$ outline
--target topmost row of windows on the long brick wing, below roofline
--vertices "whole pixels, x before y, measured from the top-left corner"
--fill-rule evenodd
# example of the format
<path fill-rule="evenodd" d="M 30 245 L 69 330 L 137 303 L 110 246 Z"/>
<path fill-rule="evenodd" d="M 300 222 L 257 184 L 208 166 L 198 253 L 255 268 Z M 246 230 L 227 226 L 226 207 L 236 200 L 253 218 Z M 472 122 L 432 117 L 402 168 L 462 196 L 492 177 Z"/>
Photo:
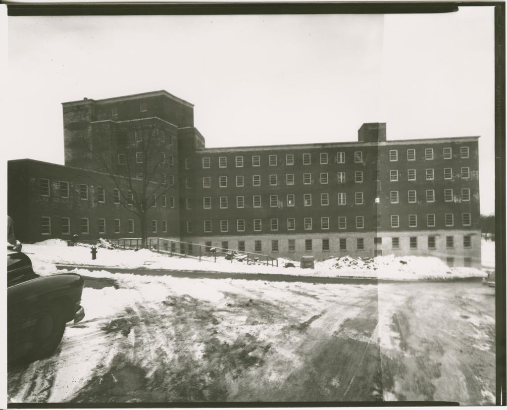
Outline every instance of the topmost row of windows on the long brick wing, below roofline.
<path fill-rule="evenodd" d="M 460 147 L 460 158 L 469 158 L 470 152 L 468 146 Z M 311 165 L 312 155 L 310 153 L 302 154 L 302 163 L 303 165 Z M 337 164 L 345 164 L 346 153 L 345 152 L 337 152 L 335 159 L 335 163 Z M 389 161 L 395 162 L 398 161 L 398 150 L 390 150 L 389 151 Z M 451 159 L 452 158 L 452 147 L 444 147 L 443 148 L 443 158 Z M 434 159 L 434 150 L 433 148 L 425 148 L 424 150 L 424 159 L 425 160 L 433 160 Z M 363 151 L 354 151 L 353 153 L 354 163 L 363 163 Z M 407 150 L 407 161 L 415 161 L 416 160 L 416 150 L 411 148 Z M 279 161 L 278 155 L 269 155 L 268 156 L 268 165 L 271 167 L 277 166 Z M 328 153 L 319 153 L 318 154 L 318 162 L 321 165 L 329 164 L 330 159 Z M 243 156 L 236 156 L 234 158 L 234 163 L 236 168 L 242 168 L 245 164 Z M 252 155 L 251 157 L 251 165 L 252 167 L 260 167 L 261 166 L 261 156 L 260 155 Z M 294 154 L 285 154 L 285 165 L 294 165 Z M 211 158 L 203 157 L 202 158 L 202 168 L 211 168 Z M 227 168 L 227 157 L 219 157 L 219 168 Z"/>

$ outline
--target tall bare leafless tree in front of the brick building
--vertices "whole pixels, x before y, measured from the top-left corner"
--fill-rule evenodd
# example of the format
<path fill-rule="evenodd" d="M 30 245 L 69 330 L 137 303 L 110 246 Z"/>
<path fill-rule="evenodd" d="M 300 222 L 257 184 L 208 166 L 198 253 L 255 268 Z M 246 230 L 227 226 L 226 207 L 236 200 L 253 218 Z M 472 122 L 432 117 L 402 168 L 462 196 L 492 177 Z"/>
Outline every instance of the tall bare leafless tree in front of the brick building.
<path fill-rule="evenodd" d="M 166 143 L 162 121 L 157 117 L 139 118 L 116 123 L 114 128 L 99 127 L 92 129 L 89 138 L 81 135 L 80 143 L 117 191 L 104 190 L 138 217 L 141 246 L 145 248 L 147 212 L 174 186 L 163 172 L 167 159 L 162 149 Z"/>

